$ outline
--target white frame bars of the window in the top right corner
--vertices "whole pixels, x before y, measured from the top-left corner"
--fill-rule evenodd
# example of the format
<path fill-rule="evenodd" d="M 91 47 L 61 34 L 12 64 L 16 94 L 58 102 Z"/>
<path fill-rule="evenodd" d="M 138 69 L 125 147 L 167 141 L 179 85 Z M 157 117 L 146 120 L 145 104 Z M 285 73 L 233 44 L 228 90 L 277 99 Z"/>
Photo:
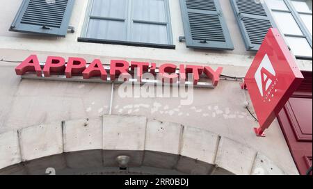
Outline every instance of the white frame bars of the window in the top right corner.
<path fill-rule="evenodd" d="M 298 11 L 296 8 L 294 8 L 294 5 L 292 5 L 291 0 L 282 0 L 286 4 L 287 8 L 289 10 L 278 10 L 278 9 L 271 9 L 266 2 L 264 2 L 266 9 L 271 13 L 271 17 L 273 17 L 274 22 L 277 22 L 274 19 L 273 11 L 275 12 L 280 12 L 280 13 L 290 13 L 292 17 L 294 17 L 294 20 L 296 21 L 296 24 L 298 24 L 300 31 L 303 33 L 303 35 L 291 35 L 291 34 L 284 34 L 282 31 L 280 33 L 283 34 L 284 41 L 288 44 L 286 37 L 296 37 L 296 38 L 305 38 L 307 42 L 310 44 L 311 49 L 312 49 L 312 35 L 310 31 L 307 29 L 307 26 L 305 26 L 305 23 L 301 19 Z M 301 13 L 301 14 L 306 14 L 306 15 L 312 15 L 310 13 Z M 278 25 L 278 24 L 276 24 Z M 289 47 L 290 49 L 290 47 Z M 292 49 L 291 49 L 292 51 Z M 295 55 L 296 56 L 296 55 Z M 304 59 L 304 60 L 312 60 L 312 56 L 296 56 L 297 59 Z"/>

